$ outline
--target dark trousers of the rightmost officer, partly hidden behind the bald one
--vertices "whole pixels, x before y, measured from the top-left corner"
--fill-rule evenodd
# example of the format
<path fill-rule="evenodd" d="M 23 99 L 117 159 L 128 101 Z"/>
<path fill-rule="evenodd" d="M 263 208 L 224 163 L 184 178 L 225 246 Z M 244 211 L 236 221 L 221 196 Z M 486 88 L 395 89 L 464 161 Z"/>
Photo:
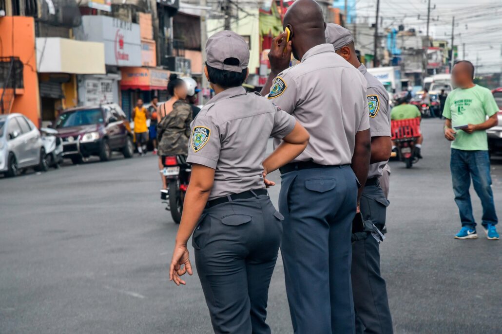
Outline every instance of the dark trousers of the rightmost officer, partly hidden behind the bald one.
<path fill-rule="evenodd" d="M 364 220 L 382 230 L 389 201 L 380 185 L 364 187 L 360 209 Z M 352 289 L 356 333 L 392 334 L 392 317 L 385 279 L 380 274 L 380 249 L 375 238 L 352 243 Z"/>

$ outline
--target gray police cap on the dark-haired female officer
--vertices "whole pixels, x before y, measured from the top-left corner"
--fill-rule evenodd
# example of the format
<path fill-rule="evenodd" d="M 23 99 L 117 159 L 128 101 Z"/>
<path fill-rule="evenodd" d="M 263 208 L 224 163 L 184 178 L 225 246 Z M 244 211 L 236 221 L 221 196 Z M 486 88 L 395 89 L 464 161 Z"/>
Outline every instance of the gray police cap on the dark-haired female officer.
<path fill-rule="evenodd" d="M 239 65 L 224 64 L 227 58 L 236 58 Z M 207 40 L 206 61 L 207 65 L 215 69 L 240 73 L 249 63 L 249 48 L 240 35 L 224 30 Z"/>

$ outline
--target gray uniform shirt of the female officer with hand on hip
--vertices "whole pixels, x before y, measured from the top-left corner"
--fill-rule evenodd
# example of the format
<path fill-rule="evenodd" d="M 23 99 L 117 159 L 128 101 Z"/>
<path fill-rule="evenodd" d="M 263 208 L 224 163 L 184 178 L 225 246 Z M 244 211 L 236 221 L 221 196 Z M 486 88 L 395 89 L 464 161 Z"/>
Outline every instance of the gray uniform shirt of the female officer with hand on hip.
<path fill-rule="evenodd" d="M 187 162 L 215 169 L 209 199 L 265 188 L 263 161 L 272 136 L 282 139 L 296 120 L 260 94 L 229 88 L 191 124 Z"/>

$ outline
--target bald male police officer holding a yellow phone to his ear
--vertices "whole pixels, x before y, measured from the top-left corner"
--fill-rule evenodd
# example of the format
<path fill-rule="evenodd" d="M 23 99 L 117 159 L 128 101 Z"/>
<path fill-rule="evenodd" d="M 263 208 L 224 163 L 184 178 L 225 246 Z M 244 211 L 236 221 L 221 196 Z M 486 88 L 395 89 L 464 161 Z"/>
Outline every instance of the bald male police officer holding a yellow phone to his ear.
<path fill-rule="evenodd" d="M 269 99 L 310 134 L 305 151 L 281 168 L 281 253 L 293 328 L 301 334 L 352 333 L 351 225 L 357 179 L 366 181 L 370 158 L 366 82 L 326 44 L 315 1 L 294 2 L 284 27 L 291 41 L 284 33 L 274 39 L 272 73 L 262 93 L 272 86 Z M 288 69 L 291 52 L 301 63 Z"/>

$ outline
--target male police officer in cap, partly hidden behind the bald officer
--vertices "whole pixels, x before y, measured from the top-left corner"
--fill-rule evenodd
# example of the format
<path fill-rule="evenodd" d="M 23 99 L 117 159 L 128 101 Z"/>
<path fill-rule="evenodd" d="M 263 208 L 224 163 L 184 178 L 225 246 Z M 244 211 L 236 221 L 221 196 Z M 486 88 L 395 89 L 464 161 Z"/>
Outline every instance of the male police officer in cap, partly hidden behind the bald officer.
<path fill-rule="evenodd" d="M 360 210 L 366 228 L 354 233 L 352 239 L 352 289 L 357 333 L 392 333 L 392 318 L 389 310 L 385 280 L 380 275 L 378 231 L 385 226 L 389 201 L 380 187 L 379 177 L 391 155 L 391 113 L 389 94 L 382 83 L 366 71 L 357 60 L 354 40 L 350 32 L 336 24 L 326 27 L 326 42 L 335 52 L 357 68 L 367 82 L 367 103 L 371 131 L 371 165 L 360 200 Z M 372 223 L 372 224 L 371 224 Z"/>

